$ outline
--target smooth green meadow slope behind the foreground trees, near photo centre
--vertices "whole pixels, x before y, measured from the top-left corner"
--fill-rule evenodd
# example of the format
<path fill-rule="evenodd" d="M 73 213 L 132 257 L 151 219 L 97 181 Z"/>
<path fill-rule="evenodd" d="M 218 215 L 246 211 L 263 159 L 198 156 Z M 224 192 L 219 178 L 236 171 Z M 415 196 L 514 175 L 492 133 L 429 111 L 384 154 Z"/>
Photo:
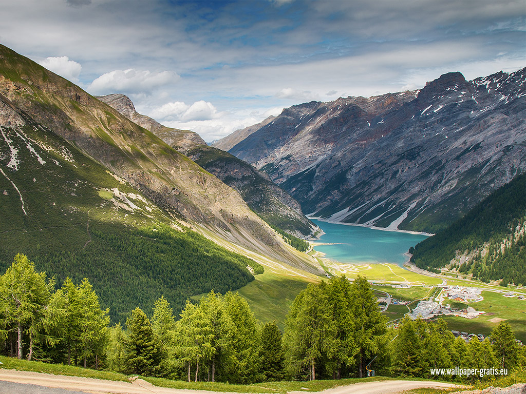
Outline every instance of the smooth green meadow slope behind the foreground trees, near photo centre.
<path fill-rule="evenodd" d="M 256 275 L 254 281 L 241 287 L 238 293 L 247 300 L 250 309 L 261 322 L 276 321 L 285 328 L 287 316 L 294 298 L 309 282 L 304 278 L 265 272 Z"/>

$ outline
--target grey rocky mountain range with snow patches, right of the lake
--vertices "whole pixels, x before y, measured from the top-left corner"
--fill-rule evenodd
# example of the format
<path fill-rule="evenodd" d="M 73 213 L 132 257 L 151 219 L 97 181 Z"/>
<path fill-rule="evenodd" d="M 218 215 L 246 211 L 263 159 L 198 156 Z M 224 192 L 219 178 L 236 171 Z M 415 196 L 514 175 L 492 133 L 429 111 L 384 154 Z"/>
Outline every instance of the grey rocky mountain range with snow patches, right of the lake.
<path fill-rule="evenodd" d="M 526 169 L 525 70 L 290 107 L 229 152 L 315 216 L 435 232 Z"/>

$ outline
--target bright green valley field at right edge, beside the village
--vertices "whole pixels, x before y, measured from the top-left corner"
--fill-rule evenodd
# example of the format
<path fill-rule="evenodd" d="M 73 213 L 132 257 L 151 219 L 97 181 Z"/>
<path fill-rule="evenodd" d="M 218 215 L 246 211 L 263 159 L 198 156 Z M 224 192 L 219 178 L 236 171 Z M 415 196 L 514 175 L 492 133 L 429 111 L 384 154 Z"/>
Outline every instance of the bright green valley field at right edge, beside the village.
<path fill-rule="evenodd" d="M 515 337 L 526 343 L 526 331 L 524 321 L 526 319 L 526 300 L 518 298 L 507 298 L 502 294 L 483 291 L 483 300 L 469 303 L 469 306 L 486 312 L 473 319 L 465 319 L 457 316 L 442 316 L 448 323 L 450 329 L 466 331 L 473 334 L 489 335 L 491 330 L 499 322 L 490 322 L 495 317 L 506 319 L 513 330 Z"/>

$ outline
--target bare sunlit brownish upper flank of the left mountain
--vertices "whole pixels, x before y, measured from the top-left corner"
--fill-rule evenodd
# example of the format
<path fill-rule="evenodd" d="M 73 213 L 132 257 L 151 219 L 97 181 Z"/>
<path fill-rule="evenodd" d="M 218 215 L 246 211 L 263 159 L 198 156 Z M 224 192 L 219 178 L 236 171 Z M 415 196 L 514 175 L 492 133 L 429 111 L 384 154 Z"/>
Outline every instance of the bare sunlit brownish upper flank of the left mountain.
<path fill-rule="evenodd" d="M 43 127 L 59 137 L 65 152 L 69 149 L 82 152 L 153 202 L 164 215 L 199 231 L 205 229 L 246 250 L 318 272 L 310 265 L 308 256 L 294 253 L 250 210 L 237 191 L 112 107 L 5 46 L 0 46 L 0 94 L 6 108 L 0 117 L 3 128 L 12 129 L 12 125 L 19 123 L 19 117 L 26 117 L 37 129 Z M 9 137 L 13 133 L 20 134 L 17 145 L 9 142 L 13 141 Z M 47 150 L 49 144 L 43 137 L 29 136 L 23 129 L 12 130 L 9 136 L 2 138 L 0 168 L 6 174 L 5 179 L 12 179 L 13 173 L 20 179 L 32 179 L 31 173 L 25 172 L 26 167 L 14 167 L 17 153 L 26 149 L 38 153 L 35 146 Z M 42 153 L 38 154 L 42 157 Z M 53 162 L 43 160 L 47 166 Z M 60 194 L 62 186 L 59 179 L 55 180 L 46 187 Z M 21 190 L 22 195 L 24 192 L 27 190 Z M 32 211 L 32 214 L 39 213 Z"/>

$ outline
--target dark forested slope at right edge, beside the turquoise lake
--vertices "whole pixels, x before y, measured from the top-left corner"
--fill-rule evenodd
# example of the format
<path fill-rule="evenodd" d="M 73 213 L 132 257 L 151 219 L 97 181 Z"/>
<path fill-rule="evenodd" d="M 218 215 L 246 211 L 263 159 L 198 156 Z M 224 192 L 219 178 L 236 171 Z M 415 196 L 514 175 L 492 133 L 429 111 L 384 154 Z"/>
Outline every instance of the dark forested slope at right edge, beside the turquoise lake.
<path fill-rule="evenodd" d="M 518 175 L 446 230 L 420 242 L 411 260 L 489 282 L 526 285 L 526 174 Z"/>

